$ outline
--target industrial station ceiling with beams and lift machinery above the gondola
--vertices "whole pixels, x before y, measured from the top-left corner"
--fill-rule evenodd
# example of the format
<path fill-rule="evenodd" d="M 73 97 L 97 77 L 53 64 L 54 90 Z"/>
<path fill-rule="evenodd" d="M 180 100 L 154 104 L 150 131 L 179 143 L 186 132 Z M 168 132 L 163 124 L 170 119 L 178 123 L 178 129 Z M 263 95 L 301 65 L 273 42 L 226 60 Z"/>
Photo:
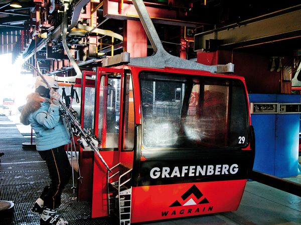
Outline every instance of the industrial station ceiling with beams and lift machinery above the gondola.
<path fill-rule="evenodd" d="M 25 61 L 38 60 L 45 73 L 63 74 L 71 65 L 64 61 L 68 57 L 62 46 L 64 2 L 20 0 L 22 7 L 14 8 L 10 0 L 1 1 L 0 33 L 3 38 L 0 38 L 0 44 L 5 46 L 9 42 L 12 45 L 6 50 L 3 47 L 2 53 L 12 51 L 14 60 L 21 55 Z M 118 36 L 125 34 L 124 21 L 138 19 L 132 11 L 131 0 L 68 2 L 66 41 L 81 68 L 91 69 L 99 65 L 102 58 L 124 50 L 124 40 Z M 184 46 L 187 59 L 196 58 L 198 50 L 210 52 L 236 49 L 269 55 L 298 54 L 296 52 L 301 49 L 299 3 L 299 0 L 144 1 L 168 52 L 179 56 L 183 47 L 181 38 L 183 40 L 184 35 L 184 39 L 188 39 Z M 111 36 L 95 33 L 98 29 L 109 30 L 118 38 L 114 36 L 115 41 L 111 43 Z M 6 35 L 16 38 L 5 40 Z M 23 45 L 20 38 L 24 40 Z M 95 46 L 92 47 L 93 38 L 96 38 L 96 50 Z M 99 47 L 100 42 L 102 47 Z M 149 42 L 147 48 L 147 55 L 151 55 L 153 49 Z M 53 60 L 63 62 L 54 66 Z"/>

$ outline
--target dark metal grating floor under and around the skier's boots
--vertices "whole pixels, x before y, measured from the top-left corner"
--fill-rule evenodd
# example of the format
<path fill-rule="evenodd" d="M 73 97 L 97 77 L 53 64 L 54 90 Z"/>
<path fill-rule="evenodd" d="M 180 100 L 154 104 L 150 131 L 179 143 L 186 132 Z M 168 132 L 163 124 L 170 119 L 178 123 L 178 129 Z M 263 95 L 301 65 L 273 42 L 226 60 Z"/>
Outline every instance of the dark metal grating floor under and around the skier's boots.
<path fill-rule="evenodd" d="M 0 116 L 0 121 L 7 121 Z M 9 120 L 8 120 L 9 121 Z M 36 150 L 23 150 L 22 143 L 30 138 L 20 138 L 16 126 L 0 127 L 0 200 L 15 203 L 12 218 L 1 218 L 1 225 L 36 225 L 40 216 L 31 212 L 33 202 L 49 182 L 46 163 Z M 16 138 L 17 137 L 17 138 Z M 62 194 L 62 204 L 58 210 L 69 225 L 113 224 L 110 217 L 92 219 L 90 202 L 74 200 L 72 180 Z M 76 192 L 76 191 L 75 191 Z"/>

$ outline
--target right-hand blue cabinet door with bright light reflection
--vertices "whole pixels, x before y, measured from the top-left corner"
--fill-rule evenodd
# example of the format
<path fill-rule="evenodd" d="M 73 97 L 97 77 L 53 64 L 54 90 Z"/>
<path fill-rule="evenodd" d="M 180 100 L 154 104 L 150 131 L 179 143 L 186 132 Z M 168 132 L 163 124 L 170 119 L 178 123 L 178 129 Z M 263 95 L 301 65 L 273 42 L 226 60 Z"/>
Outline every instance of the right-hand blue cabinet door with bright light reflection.
<path fill-rule="evenodd" d="M 299 114 L 276 115 L 275 176 L 298 173 L 299 120 Z"/>

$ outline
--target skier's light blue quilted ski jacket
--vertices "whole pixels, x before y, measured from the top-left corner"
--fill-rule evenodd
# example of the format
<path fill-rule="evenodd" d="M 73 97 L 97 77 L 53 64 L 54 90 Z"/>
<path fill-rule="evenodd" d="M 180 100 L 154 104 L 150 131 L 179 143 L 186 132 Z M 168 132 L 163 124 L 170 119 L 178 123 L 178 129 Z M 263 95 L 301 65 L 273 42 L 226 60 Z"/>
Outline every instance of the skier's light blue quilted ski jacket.
<path fill-rule="evenodd" d="M 36 132 L 37 150 L 48 150 L 70 142 L 70 135 L 60 117 L 59 105 L 41 101 L 41 107 L 30 113 L 28 121 Z"/>

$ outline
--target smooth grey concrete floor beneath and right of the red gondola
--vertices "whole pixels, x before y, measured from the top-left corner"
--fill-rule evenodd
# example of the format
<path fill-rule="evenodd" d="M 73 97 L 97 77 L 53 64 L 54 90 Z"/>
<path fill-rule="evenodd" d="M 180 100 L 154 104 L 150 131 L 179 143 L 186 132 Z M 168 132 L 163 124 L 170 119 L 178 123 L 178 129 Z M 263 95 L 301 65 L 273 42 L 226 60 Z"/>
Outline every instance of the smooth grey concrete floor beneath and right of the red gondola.
<path fill-rule="evenodd" d="M 14 122 L 9 124 L 14 124 Z M 26 133 L 27 131 L 22 132 Z M 5 134 L 0 130 L 0 138 L 7 138 L 7 136 L 2 137 L 2 135 Z M 299 157 L 299 161 L 301 161 L 301 157 Z M 301 183 L 300 174 L 286 179 Z M 4 224 L 1 218 L 0 224 Z M 25 225 L 26 223 L 22 224 Z M 86 225 L 88 223 L 76 223 L 74 221 L 70 224 Z M 100 223 L 89 221 L 89 224 Z M 241 204 L 236 211 L 145 224 L 301 224 L 301 197 L 256 181 L 248 181 Z"/>

